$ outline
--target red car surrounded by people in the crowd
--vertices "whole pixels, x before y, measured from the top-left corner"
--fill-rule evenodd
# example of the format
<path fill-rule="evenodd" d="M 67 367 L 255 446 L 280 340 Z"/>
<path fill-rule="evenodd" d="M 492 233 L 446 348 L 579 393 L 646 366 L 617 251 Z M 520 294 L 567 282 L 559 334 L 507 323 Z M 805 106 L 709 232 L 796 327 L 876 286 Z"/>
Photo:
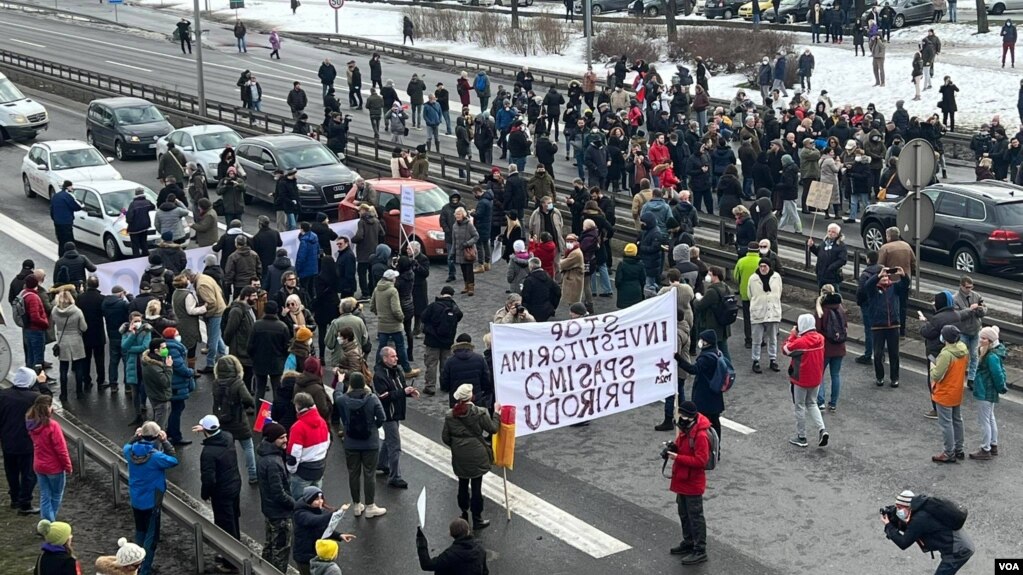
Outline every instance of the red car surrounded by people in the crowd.
<path fill-rule="evenodd" d="M 441 229 L 441 208 L 448 203 L 449 192 L 432 182 L 422 180 L 381 178 L 366 180 L 366 185 L 376 191 L 376 213 L 387 228 L 387 242 L 397 250 L 404 246 L 401 234 L 401 188 L 410 186 L 415 193 L 415 226 L 405 228 L 409 239 L 422 246 L 422 253 L 431 258 L 446 256 L 444 230 Z M 352 189 L 338 206 L 339 221 L 359 217 L 361 202 Z"/>

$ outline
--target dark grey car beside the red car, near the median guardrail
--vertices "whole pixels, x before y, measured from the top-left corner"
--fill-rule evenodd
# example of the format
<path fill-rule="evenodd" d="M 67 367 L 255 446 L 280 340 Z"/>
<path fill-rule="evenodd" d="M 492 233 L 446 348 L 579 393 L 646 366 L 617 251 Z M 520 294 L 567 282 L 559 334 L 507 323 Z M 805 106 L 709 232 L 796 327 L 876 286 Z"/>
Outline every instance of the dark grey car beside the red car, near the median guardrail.
<path fill-rule="evenodd" d="M 299 202 L 303 215 L 331 213 L 359 175 L 320 142 L 299 134 L 269 134 L 244 138 L 235 148 L 246 171 L 246 201 L 273 203 L 277 168 L 299 171 Z"/>

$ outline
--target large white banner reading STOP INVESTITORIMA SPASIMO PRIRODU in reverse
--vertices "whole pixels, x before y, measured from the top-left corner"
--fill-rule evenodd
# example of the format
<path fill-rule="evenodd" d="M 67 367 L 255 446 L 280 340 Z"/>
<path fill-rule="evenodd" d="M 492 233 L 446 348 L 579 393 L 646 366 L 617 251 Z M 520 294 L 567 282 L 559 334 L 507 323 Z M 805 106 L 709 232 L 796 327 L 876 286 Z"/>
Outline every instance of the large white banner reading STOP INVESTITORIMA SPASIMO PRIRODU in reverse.
<path fill-rule="evenodd" d="M 516 406 L 516 437 L 675 393 L 675 314 L 669 292 L 580 319 L 491 323 L 497 400 Z"/>

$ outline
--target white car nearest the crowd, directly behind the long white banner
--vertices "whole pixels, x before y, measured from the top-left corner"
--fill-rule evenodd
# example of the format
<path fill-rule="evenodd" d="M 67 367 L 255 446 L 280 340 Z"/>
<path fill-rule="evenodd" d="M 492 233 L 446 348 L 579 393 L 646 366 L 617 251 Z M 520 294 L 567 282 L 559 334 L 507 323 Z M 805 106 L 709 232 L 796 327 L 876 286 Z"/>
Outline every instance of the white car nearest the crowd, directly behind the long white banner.
<path fill-rule="evenodd" d="M 102 250 L 110 260 L 131 255 L 131 238 L 124 211 L 141 187 L 146 198 L 157 204 L 157 192 L 129 180 L 97 180 L 75 186 L 75 197 L 85 207 L 75 212 L 75 240 Z M 146 241 L 155 248 L 160 239 L 150 228 Z"/>

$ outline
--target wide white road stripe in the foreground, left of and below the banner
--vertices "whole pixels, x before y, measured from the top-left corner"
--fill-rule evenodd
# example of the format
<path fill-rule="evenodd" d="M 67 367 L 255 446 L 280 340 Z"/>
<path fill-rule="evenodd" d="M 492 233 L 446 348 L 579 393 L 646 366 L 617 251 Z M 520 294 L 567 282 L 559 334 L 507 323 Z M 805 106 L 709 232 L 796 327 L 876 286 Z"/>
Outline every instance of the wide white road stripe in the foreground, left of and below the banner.
<path fill-rule="evenodd" d="M 451 452 L 447 447 L 407 427 L 401 428 L 401 440 L 405 444 L 402 449 L 404 452 L 444 476 L 456 479 L 451 471 Z M 507 490 L 511 511 L 517 515 L 592 558 L 603 559 L 632 548 L 510 481 Z M 483 494 L 497 504 L 504 505 L 504 492 L 497 476 L 490 476 L 483 482 Z"/>

